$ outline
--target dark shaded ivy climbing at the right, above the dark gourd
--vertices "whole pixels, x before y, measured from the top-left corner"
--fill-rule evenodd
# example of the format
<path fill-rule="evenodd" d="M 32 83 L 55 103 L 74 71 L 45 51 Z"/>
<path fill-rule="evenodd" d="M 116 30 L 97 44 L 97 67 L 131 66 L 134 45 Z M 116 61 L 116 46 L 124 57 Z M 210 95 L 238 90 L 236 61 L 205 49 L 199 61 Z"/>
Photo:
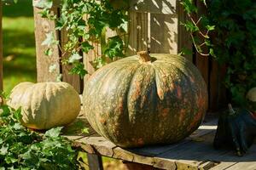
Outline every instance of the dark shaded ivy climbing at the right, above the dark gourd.
<path fill-rule="evenodd" d="M 207 13 L 196 19 L 195 1 L 182 1 L 189 15 L 183 26 L 190 32 L 198 53 L 212 55 L 220 65 L 226 65 L 224 85 L 231 100 L 244 105 L 247 90 L 256 86 L 256 2 L 201 0 L 197 3 L 202 3 Z M 207 47 L 207 51 L 202 47 Z"/>

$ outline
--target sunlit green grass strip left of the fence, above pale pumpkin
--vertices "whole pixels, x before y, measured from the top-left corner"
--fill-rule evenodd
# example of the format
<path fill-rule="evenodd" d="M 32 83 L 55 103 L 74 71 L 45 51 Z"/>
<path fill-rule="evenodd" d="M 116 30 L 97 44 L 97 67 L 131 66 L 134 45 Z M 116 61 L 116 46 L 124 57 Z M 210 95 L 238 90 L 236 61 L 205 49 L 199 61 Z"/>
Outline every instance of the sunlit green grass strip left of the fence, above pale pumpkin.
<path fill-rule="evenodd" d="M 3 91 L 36 82 L 36 50 L 31 0 L 3 5 Z"/>

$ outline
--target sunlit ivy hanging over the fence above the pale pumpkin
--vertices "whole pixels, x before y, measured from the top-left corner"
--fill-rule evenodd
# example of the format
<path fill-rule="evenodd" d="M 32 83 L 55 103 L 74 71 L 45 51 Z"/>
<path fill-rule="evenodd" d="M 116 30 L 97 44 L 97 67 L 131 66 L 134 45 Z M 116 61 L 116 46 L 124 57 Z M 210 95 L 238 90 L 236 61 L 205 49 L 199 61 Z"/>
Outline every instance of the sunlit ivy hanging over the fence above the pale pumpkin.
<path fill-rule="evenodd" d="M 102 44 L 102 54 L 96 56 L 92 63 L 96 68 L 105 65 L 107 60 L 114 60 L 117 56 L 123 57 L 125 47 L 121 36 L 126 33 L 127 12 L 124 10 L 126 1 L 115 3 L 113 0 L 63 0 L 60 4 L 60 16 L 50 11 L 53 7 L 53 0 L 38 1 L 35 6 L 43 8 L 40 13 L 42 17 L 55 20 L 55 30 L 66 30 L 68 39 L 67 43 L 61 47 L 54 33 L 47 33 L 42 43 L 48 47 L 44 54 L 50 56 L 51 46 L 59 45 L 62 56 L 69 54 L 67 59 L 61 59 L 61 63 L 73 65 L 70 72 L 79 74 L 80 77 L 84 77 L 87 71 L 84 70 L 84 64 L 79 60 L 82 59 L 82 53 L 88 54 L 90 50 L 94 50 L 92 42 Z M 107 29 L 116 31 L 118 34 L 106 39 Z M 55 65 L 51 65 L 49 71 L 54 70 Z"/>

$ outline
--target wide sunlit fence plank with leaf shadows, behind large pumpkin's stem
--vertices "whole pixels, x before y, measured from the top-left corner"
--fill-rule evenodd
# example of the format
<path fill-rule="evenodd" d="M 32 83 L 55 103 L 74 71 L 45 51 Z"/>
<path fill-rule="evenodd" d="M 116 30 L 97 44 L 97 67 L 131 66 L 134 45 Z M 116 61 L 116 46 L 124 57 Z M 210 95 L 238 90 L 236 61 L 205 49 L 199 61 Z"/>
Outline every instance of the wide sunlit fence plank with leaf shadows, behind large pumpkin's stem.
<path fill-rule="evenodd" d="M 150 14 L 150 53 L 177 54 L 177 17 Z"/>

